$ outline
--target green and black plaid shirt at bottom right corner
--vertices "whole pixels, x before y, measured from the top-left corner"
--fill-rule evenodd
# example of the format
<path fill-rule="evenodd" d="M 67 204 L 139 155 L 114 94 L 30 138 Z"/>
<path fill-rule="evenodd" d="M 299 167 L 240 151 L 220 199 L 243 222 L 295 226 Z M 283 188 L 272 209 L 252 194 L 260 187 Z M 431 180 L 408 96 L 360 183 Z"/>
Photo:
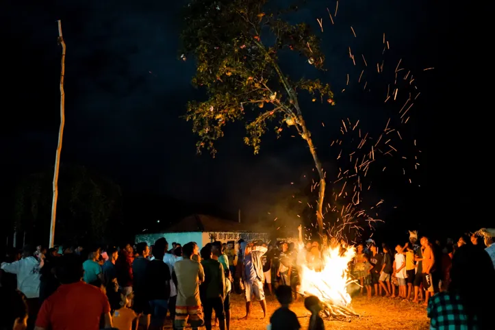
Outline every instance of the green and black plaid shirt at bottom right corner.
<path fill-rule="evenodd" d="M 470 327 L 461 297 L 449 292 L 437 293 L 429 299 L 428 317 L 431 330 L 477 329 L 476 318 L 474 318 L 474 327 Z"/>

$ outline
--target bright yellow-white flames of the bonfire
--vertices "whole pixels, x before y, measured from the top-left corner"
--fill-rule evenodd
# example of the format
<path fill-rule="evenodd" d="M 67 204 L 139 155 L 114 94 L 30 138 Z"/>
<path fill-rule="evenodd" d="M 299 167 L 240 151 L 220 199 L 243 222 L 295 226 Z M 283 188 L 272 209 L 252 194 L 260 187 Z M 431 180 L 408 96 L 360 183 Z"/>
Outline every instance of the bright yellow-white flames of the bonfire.
<path fill-rule="evenodd" d="M 304 246 L 300 246 L 300 249 Z M 355 247 L 348 246 L 342 253 L 340 244 L 333 244 L 322 251 L 321 271 L 314 270 L 308 260 L 299 260 L 301 265 L 300 292 L 305 295 L 317 296 L 322 302 L 331 305 L 348 307 L 351 295 L 347 285 L 355 282 L 349 275 L 348 265 L 356 255 Z M 306 253 L 299 253 L 304 258 Z M 301 259 L 302 259 L 301 258 Z"/>

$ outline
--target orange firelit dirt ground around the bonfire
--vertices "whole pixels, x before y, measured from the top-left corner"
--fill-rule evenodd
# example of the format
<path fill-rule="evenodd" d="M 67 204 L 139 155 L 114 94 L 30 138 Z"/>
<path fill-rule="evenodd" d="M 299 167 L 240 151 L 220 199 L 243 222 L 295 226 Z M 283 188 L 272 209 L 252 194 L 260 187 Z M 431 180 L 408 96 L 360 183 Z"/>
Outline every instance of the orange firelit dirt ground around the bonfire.
<path fill-rule="evenodd" d="M 270 320 L 270 315 L 279 307 L 275 296 L 267 297 L 268 312 L 266 320 L 262 319 L 262 309 L 258 303 L 252 307 L 250 320 L 238 320 L 246 314 L 244 297 L 233 294 L 231 300 L 231 329 L 232 330 L 265 330 Z M 339 320 L 326 320 L 325 329 L 429 329 L 426 307 L 402 301 L 400 299 L 372 298 L 357 296 L 353 298 L 352 306 L 361 315 L 350 322 Z M 307 329 L 309 312 L 302 302 L 294 303 L 291 309 L 299 317 L 302 329 Z M 166 327 L 166 329 L 170 329 Z M 218 327 L 214 327 L 218 329 Z"/>

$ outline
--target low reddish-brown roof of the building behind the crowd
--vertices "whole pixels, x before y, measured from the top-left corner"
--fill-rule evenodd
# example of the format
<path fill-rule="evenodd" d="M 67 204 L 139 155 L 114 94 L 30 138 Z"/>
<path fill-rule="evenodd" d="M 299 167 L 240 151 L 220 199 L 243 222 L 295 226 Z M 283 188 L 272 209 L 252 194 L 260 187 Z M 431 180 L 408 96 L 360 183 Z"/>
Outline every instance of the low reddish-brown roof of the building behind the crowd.
<path fill-rule="evenodd" d="M 166 233 L 180 233 L 190 231 L 217 231 L 217 232 L 229 232 L 229 231 L 252 231 L 249 229 L 249 225 L 245 223 L 238 223 L 233 220 L 225 220 L 217 218 L 215 216 L 206 216 L 204 214 L 191 214 L 186 216 L 177 223 L 166 228 Z"/>

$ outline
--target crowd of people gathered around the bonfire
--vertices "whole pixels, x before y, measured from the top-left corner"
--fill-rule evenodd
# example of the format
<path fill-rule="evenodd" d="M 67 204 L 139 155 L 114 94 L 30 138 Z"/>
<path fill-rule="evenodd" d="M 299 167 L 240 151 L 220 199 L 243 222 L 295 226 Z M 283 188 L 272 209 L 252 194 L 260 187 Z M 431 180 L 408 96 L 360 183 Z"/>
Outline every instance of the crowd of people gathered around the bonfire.
<path fill-rule="evenodd" d="M 443 246 L 410 231 L 409 242 L 392 250 L 369 239 L 357 244 L 349 269 L 357 294 L 387 296 L 427 306 L 431 329 L 495 329 L 495 231 L 461 236 Z M 342 251 L 348 246 L 340 244 Z M 324 329 L 316 296 L 299 294 L 301 262 L 318 271 L 325 248 L 304 242 L 195 242 L 120 247 L 38 246 L 12 251 L 1 264 L 0 330 L 230 329 L 231 294 L 244 294 L 248 319 L 257 301 L 266 317 L 265 294 L 281 307 L 268 329 L 300 329 L 290 303 L 304 300 L 310 330 Z M 392 253 L 395 251 L 395 253 Z M 490 259 L 491 257 L 491 259 Z M 483 285 L 483 295 L 475 285 Z"/>

